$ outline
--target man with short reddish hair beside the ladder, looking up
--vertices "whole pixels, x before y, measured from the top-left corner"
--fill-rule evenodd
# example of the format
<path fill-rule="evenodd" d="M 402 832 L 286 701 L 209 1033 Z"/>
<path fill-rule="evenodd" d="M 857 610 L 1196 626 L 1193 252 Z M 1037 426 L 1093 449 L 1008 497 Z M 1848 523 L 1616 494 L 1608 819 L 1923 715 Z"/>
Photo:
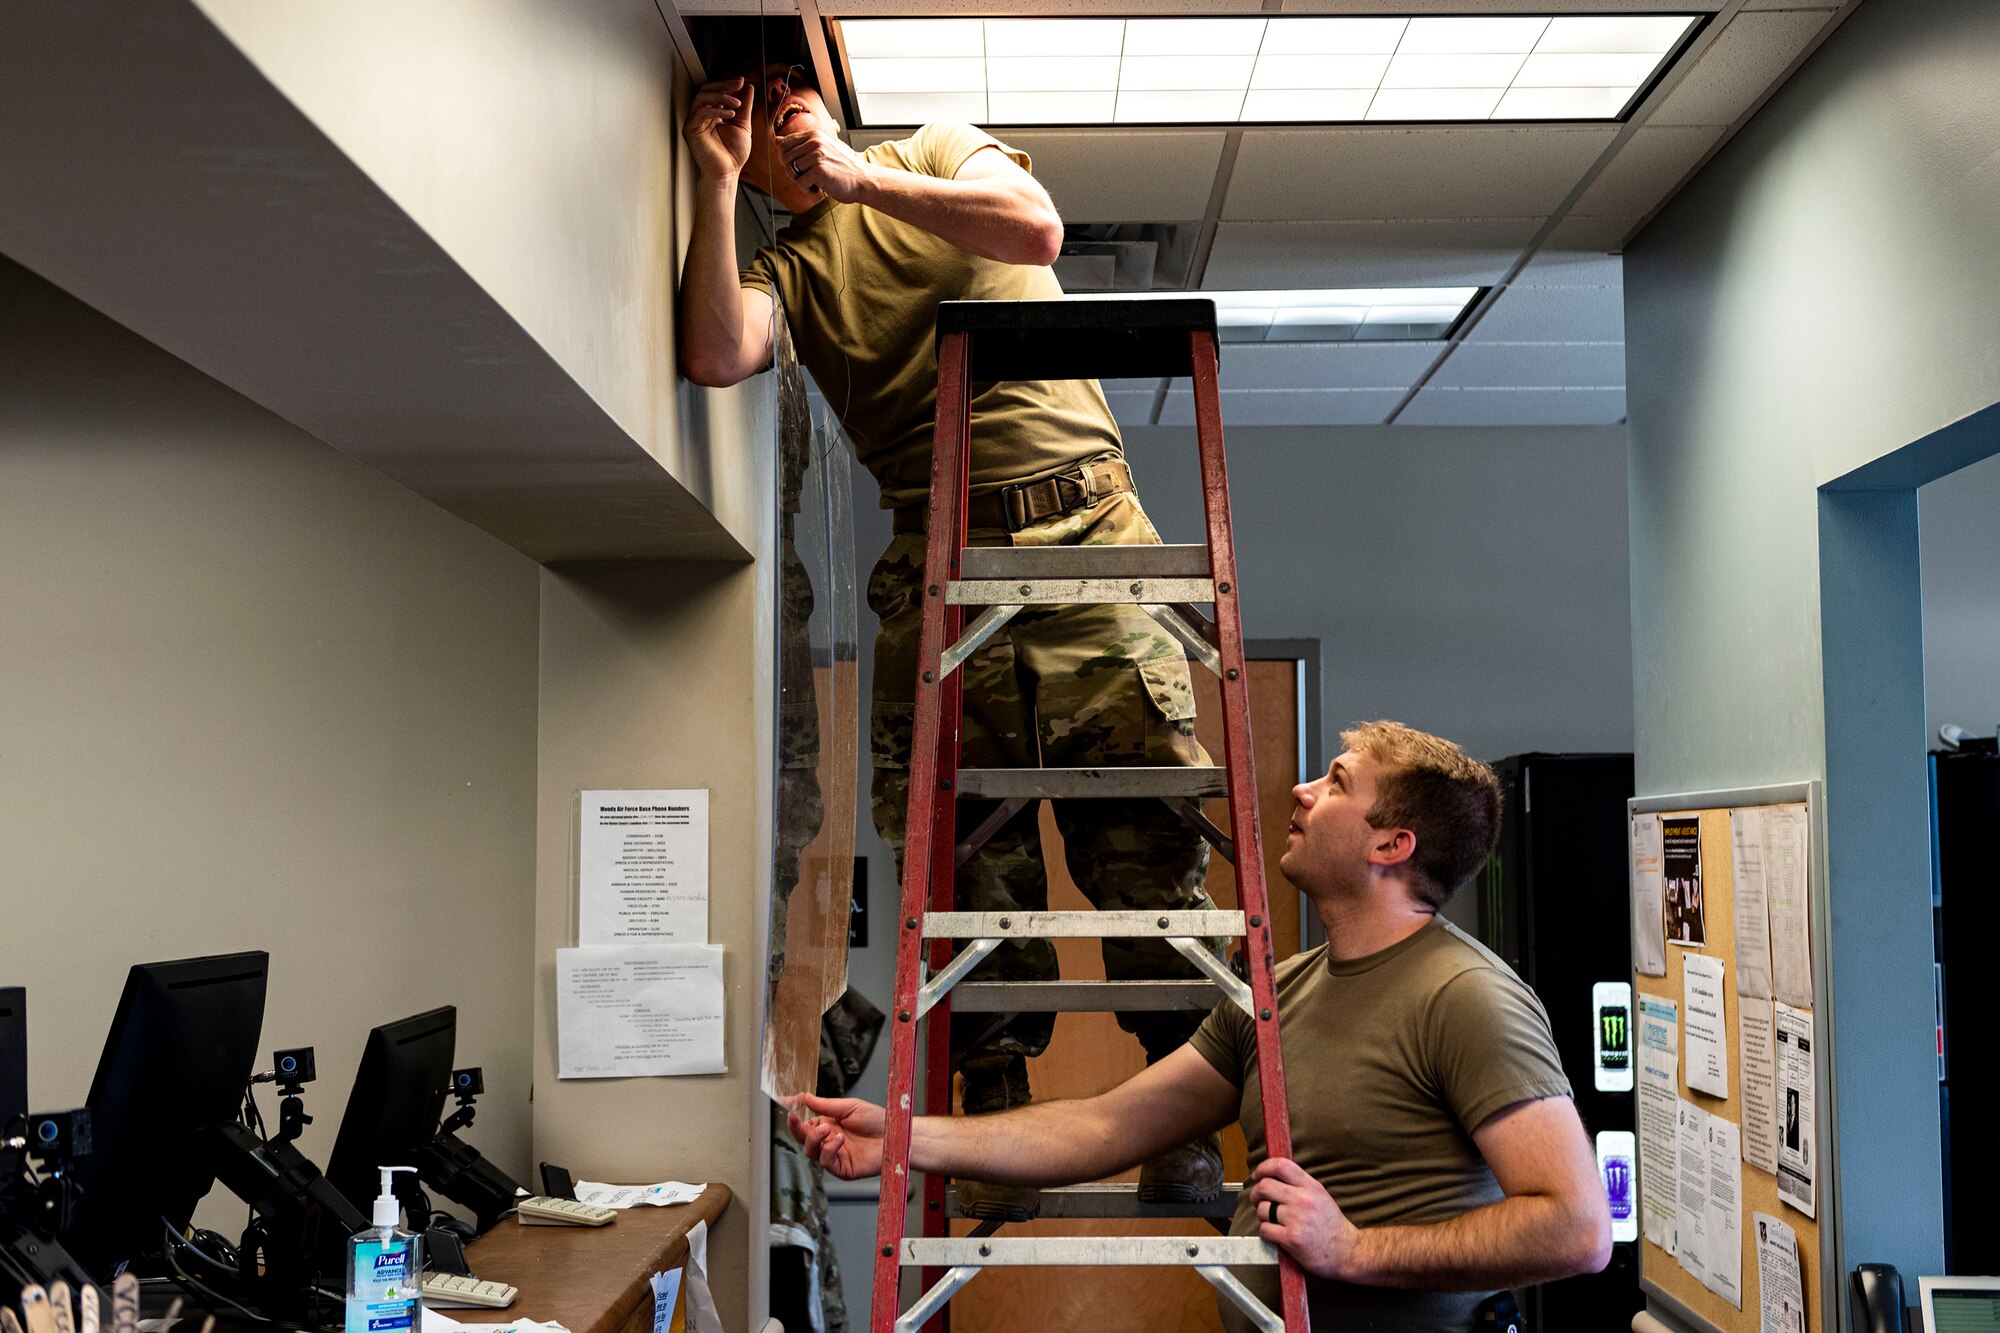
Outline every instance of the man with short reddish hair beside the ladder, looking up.
<path fill-rule="evenodd" d="M 1230 1231 L 1298 1259 L 1314 1333 L 1456 1333 L 1506 1287 L 1602 1269 L 1610 1207 L 1548 1015 L 1436 917 L 1492 853 L 1500 785 L 1396 723 L 1342 743 L 1326 777 L 1294 789 L 1280 863 L 1326 927 L 1326 945 L 1278 965 L 1292 1159 L 1266 1157 L 1252 1023 L 1224 1003 L 1182 1051 L 1098 1097 L 918 1119 L 912 1165 L 1090 1181 L 1240 1117 L 1254 1171 Z M 840 1177 L 882 1165 L 880 1107 L 806 1097 L 792 1129 Z M 1274 1269 L 1242 1277 L 1276 1307 Z M 1230 1305 L 1224 1319 L 1246 1327 Z"/>

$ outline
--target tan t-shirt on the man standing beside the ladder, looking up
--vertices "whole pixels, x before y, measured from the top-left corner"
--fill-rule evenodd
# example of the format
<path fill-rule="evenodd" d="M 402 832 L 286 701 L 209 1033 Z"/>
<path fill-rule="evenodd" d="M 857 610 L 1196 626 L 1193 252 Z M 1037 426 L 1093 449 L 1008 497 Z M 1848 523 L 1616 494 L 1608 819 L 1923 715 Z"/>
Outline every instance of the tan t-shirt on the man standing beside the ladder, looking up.
<path fill-rule="evenodd" d="M 1568 1097 L 1548 1013 L 1506 963 L 1448 921 L 1366 959 L 1326 947 L 1278 965 L 1292 1157 L 1358 1227 L 1434 1223 L 1504 1195 L 1472 1131 L 1518 1101 Z M 1264 1161 L 1256 1035 L 1218 1005 L 1194 1049 L 1244 1091 L 1250 1165 Z M 1256 1235 L 1248 1191 L 1230 1235 Z M 1276 1269 L 1240 1269 L 1278 1305 Z M 1390 1291 L 1306 1279 L 1312 1333 L 1456 1333 L 1488 1291 Z M 1246 1329 L 1224 1303 L 1224 1321 Z"/>

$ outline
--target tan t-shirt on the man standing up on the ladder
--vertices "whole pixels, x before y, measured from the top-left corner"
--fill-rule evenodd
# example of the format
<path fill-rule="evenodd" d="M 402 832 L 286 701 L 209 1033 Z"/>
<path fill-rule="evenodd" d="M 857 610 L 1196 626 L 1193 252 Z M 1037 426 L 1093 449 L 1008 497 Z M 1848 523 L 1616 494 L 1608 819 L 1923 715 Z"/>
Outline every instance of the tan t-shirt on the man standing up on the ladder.
<path fill-rule="evenodd" d="M 1028 154 L 970 124 L 928 124 L 862 156 L 950 180 L 988 146 L 1030 166 Z M 1050 268 L 980 258 L 886 212 L 834 200 L 792 218 L 740 280 L 776 292 L 798 356 L 882 484 L 884 508 L 930 494 L 938 302 L 1062 298 Z M 1108 452 L 1120 452 L 1118 424 L 1096 380 L 974 384 L 972 494 Z"/>

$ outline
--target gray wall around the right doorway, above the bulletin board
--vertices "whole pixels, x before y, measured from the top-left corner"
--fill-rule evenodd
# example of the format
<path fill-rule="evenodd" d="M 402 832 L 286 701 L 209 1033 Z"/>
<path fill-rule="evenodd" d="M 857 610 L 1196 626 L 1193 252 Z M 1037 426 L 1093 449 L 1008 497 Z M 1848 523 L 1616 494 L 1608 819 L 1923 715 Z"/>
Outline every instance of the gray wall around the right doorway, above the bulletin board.
<path fill-rule="evenodd" d="M 1862 4 L 1626 252 L 1638 789 L 1826 779 L 1838 1231 L 1846 1263 L 1920 1273 L 1942 1237 L 1894 486 L 1936 472 L 1820 486 L 2000 398 L 1996 82 L 1992 4 Z"/>

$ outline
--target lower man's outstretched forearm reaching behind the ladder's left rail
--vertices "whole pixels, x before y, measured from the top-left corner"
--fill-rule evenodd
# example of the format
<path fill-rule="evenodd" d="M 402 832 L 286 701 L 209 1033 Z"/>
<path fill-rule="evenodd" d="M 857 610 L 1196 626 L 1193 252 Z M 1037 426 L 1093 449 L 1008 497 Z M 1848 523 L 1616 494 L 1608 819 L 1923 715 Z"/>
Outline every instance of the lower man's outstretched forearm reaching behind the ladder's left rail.
<path fill-rule="evenodd" d="M 920 1115 L 910 1165 L 994 1185 L 1074 1185 L 1134 1165 L 1092 1101 L 1042 1101 L 994 1115 Z"/>

